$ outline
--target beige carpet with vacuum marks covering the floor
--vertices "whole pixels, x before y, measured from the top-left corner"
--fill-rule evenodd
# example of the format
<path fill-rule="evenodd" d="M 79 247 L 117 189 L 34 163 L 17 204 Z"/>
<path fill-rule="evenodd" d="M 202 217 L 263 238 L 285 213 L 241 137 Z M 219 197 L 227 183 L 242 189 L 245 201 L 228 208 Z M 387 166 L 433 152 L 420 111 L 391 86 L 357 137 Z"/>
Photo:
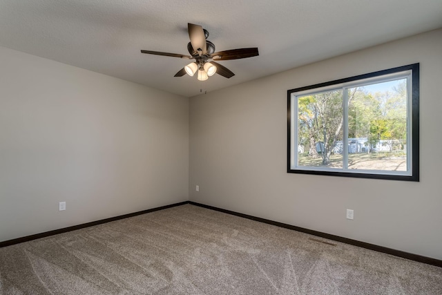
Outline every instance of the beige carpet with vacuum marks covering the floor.
<path fill-rule="evenodd" d="M 0 294 L 440 295 L 442 269 L 185 204 L 3 247 Z"/>

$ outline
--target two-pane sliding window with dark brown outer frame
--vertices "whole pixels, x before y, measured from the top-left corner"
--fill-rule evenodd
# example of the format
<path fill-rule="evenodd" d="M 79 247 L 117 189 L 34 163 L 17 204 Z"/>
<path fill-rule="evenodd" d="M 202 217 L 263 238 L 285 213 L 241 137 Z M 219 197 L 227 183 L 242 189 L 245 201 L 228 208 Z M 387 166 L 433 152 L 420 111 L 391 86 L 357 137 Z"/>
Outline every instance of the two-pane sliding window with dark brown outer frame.
<path fill-rule="evenodd" d="M 419 64 L 287 91 L 287 172 L 419 181 Z"/>

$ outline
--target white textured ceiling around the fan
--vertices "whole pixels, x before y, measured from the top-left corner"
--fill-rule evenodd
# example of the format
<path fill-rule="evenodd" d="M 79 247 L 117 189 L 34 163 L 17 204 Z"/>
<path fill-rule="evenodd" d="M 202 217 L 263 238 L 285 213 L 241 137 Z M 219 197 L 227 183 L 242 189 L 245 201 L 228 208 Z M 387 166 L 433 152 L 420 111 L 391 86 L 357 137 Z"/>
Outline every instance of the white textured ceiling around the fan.
<path fill-rule="evenodd" d="M 219 61 L 236 75 L 173 77 L 189 61 L 187 23 L 216 51 L 258 47 Z M 442 0 L 0 0 L 0 46 L 186 97 L 442 27 Z"/>

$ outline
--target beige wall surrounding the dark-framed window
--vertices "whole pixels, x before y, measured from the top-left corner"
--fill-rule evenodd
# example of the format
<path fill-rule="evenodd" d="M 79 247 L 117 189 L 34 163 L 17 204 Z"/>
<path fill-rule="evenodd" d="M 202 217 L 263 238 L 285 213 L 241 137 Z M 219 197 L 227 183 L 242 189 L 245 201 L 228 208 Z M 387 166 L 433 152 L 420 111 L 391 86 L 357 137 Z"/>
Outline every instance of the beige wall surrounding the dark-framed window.
<path fill-rule="evenodd" d="M 286 173 L 288 89 L 418 62 L 421 182 Z M 441 82 L 435 30 L 193 97 L 189 198 L 442 259 Z"/>

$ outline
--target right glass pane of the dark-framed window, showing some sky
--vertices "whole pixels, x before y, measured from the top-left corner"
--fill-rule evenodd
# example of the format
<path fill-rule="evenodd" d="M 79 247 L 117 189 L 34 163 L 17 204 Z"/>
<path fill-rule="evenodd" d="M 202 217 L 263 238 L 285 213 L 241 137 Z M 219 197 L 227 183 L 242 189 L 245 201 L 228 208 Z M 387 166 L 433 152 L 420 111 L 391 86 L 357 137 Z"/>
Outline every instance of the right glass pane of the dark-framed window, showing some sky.
<path fill-rule="evenodd" d="M 407 79 L 348 88 L 348 168 L 407 171 Z"/>

